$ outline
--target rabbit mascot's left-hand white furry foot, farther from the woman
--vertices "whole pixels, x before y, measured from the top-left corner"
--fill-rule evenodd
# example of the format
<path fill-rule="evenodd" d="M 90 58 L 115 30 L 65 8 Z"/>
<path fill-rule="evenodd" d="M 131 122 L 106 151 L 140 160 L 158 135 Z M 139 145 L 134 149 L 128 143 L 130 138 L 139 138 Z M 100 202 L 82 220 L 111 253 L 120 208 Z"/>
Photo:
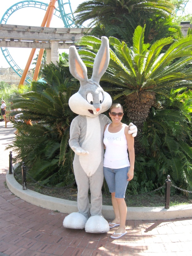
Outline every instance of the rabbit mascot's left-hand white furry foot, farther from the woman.
<path fill-rule="evenodd" d="M 87 218 L 81 213 L 71 213 L 65 217 L 63 226 L 65 228 L 83 229 L 85 228 L 86 222 Z"/>

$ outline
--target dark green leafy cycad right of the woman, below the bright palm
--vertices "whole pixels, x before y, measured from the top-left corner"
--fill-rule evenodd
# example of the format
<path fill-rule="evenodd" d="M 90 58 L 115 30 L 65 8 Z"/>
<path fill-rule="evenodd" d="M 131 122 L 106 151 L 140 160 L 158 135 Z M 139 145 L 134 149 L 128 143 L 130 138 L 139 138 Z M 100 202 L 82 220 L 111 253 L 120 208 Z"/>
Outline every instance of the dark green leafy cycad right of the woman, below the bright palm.
<path fill-rule="evenodd" d="M 147 180 L 162 185 L 169 174 L 173 184 L 192 189 L 191 106 L 191 90 L 181 88 L 172 90 L 160 109 L 151 108 L 139 138 Z"/>

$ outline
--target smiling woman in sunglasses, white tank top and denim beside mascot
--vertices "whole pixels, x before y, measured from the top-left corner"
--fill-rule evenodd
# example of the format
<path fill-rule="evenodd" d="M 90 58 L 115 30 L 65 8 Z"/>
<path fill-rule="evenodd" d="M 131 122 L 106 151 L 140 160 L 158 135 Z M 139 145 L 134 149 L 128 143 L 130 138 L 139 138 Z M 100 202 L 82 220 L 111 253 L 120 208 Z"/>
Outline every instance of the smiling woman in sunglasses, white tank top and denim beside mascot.
<path fill-rule="evenodd" d="M 109 111 L 112 123 L 104 128 L 104 177 L 111 193 L 111 201 L 115 219 L 109 223 L 110 228 L 119 226 L 111 238 L 119 238 L 125 234 L 127 205 L 125 191 L 134 174 L 134 138 L 128 134 L 129 127 L 122 123 L 123 107 L 112 104 Z M 127 148 L 129 151 L 129 159 Z M 130 163 L 129 163 L 130 160 Z"/>

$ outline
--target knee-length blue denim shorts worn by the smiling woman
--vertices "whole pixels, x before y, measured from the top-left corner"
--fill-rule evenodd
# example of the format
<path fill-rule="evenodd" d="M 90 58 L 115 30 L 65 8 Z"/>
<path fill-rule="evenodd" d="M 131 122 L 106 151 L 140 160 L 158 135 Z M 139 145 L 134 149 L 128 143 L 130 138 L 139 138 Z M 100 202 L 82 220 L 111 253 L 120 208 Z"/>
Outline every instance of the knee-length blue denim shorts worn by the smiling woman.
<path fill-rule="evenodd" d="M 128 185 L 127 173 L 129 166 L 119 169 L 103 167 L 104 177 L 110 193 L 115 192 L 116 198 L 125 198 L 125 191 Z"/>

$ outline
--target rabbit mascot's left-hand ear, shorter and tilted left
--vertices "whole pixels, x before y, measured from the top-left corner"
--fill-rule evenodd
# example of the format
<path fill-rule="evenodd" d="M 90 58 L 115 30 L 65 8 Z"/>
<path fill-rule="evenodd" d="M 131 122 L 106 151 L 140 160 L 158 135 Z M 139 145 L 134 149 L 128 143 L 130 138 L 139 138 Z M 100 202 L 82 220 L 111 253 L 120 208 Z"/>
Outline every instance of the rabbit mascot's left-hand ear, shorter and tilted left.
<path fill-rule="evenodd" d="M 69 70 L 71 75 L 81 82 L 81 85 L 88 82 L 87 67 L 79 57 L 75 46 L 69 48 Z"/>

